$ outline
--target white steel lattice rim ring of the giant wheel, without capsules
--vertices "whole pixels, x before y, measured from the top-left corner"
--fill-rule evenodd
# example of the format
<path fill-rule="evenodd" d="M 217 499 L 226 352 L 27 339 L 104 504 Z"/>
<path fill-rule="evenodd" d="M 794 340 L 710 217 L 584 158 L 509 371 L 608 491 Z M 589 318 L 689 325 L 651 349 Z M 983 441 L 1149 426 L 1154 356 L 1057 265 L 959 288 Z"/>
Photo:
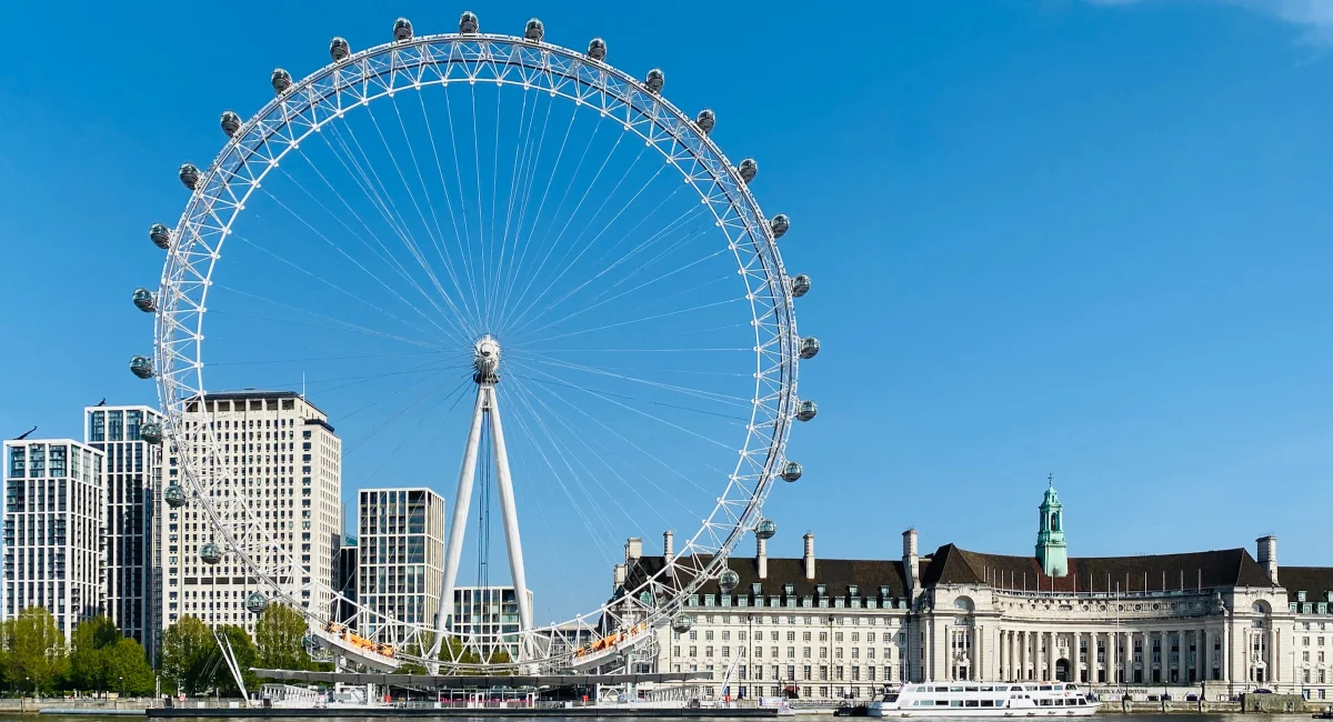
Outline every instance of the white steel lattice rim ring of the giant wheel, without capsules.
<path fill-rule="evenodd" d="M 774 480 L 780 478 L 790 422 L 796 417 L 797 358 L 790 278 L 782 266 L 770 221 L 737 168 L 708 135 L 678 108 L 629 75 L 587 55 L 505 35 L 433 35 L 393 41 L 351 55 L 293 83 L 245 121 L 217 157 L 200 172 L 177 222 L 156 294 L 153 373 L 167 414 L 165 438 L 180 454 L 183 486 L 213 525 L 225 554 L 264 581 L 272 597 L 292 598 L 293 589 L 317 590 L 312 598 L 341 598 L 327 579 L 293 587 L 303 565 L 275 542 L 273 525 L 245 493 L 245 472 L 224 461 L 217 433 L 208 424 L 205 390 L 207 300 L 215 265 L 237 217 L 264 177 L 312 133 L 339 123 L 357 108 L 395 93 L 420 92 L 452 83 L 496 84 L 559 96 L 619 121 L 624 131 L 656 149 L 697 190 L 725 233 L 746 286 L 754 329 L 754 397 L 744 445 L 713 512 L 661 570 L 627 585 L 616 601 L 579 619 L 597 622 L 607 650 L 640 643 L 666 623 L 682 599 L 716 578 L 741 537 L 760 520 Z M 372 617 L 373 610 L 363 610 Z M 329 619 L 324 609 L 304 610 L 312 627 Z M 400 623 L 396 619 L 385 622 Z M 525 669 L 563 669 L 576 654 L 549 645 L 557 625 L 527 630 Z M 395 639 L 399 659 L 424 659 L 432 625 L 408 625 Z M 540 642 L 539 642 L 540 639 Z M 615 643 L 612 643 L 615 642 Z M 444 645 L 440 662 L 451 659 Z M 579 654 L 577 658 L 588 657 Z M 588 657 L 591 658 L 591 657 Z M 516 667 L 515 665 L 509 665 Z"/>

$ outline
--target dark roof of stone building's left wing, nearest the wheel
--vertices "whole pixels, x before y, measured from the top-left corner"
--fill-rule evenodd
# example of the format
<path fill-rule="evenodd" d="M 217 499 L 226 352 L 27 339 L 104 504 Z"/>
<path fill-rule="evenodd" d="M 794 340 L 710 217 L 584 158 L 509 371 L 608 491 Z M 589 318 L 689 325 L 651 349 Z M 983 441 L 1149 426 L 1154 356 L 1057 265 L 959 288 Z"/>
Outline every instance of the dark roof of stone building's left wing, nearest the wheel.
<path fill-rule="evenodd" d="M 700 562 L 706 565 L 706 557 Z M 627 586 L 639 586 L 648 575 L 656 574 L 664 566 L 663 557 L 640 557 L 627 569 Z M 805 578 L 805 561 L 801 558 L 768 558 L 768 578 L 758 578 L 758 559 L 754 557 L 732 557 L 729 566 L 740 574 L 741 583 L 733 594 L 749 594 L 750 585 L 760 582 L 765 597 L 781 595 L 782 586 L 794 586 L 796 597 L 813 597 L 814 585 L 824 585 L 830 597 L 846 597 L 848 587 L 856 586 L 862 598 L 878 598 L 880 587 L 886 586 L 890 598 L 906 597 L 906 582 L 902 577 L 902 562 L 881 559 L 820 559 L 814 561 L 814 579 Z M 717 581 L 702 585 L 700 594 L 718 594 Z"/>

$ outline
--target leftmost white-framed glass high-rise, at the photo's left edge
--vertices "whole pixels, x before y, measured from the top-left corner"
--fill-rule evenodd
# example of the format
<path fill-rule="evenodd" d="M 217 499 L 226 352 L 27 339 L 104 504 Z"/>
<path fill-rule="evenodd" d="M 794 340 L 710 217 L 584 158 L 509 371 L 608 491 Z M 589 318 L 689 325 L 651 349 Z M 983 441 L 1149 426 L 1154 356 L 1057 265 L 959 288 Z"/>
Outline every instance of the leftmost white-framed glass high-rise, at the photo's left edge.
<path fill-rule="evenodd" d="M 48 609 L 65 634 L 101 611 L 103 453 L 69 438 L 4 442 L 4 618 Z"/>

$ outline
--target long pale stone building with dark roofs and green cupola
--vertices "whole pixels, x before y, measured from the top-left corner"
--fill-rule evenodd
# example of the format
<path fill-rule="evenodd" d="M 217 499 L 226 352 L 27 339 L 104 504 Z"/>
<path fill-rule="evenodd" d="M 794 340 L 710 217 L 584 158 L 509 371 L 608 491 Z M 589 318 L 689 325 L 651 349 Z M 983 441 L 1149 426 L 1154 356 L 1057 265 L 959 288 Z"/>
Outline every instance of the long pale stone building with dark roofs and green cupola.
<path fill-rule="evenodd" d="M 686 599 L 689 631 L 659 631 L 659 670 L 712 671 L 713 697 L 870 697 L 901 682 L 1056 679 L 1104 693 L 1192 687 L 1208 699 L 1270 689 L 1333 699 L 1333 567 L 1278 567 L 1249 549 L 1070 557 L 1054 488 L 1034 554 L 952 543 L 901 559 L 733 555 L 740 585 Z M 670 534 L 664 538 L 669 549 Z M 669 550 L 668 550 L 669 553 Z M 629 540 L 616 594 L 661 569 Z M 1181 690 L 1181 694 L 1188 694 Z"/>

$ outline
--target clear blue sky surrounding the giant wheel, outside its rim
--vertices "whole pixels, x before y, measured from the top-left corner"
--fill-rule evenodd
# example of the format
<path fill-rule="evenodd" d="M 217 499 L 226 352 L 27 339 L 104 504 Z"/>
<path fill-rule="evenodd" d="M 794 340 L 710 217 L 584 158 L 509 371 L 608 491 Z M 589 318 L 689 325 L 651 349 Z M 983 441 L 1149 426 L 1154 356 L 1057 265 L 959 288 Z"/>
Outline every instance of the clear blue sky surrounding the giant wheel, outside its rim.
<path fill-rule="evenodd" d="M 147 225 L 180 214 L 176 167 L 217 152 L 223 109 L 257 109 L 273 67 L 312 72 L 333 35 L 364 48 L 397 15 L 433 32 L 461 9 L 0 11 L 0 433 L 79 436 L 85 404 L 155 400 L 125 370 L 152 341 L 129 292 L 160 274 Z M 553 43 L 603 36 L 617 67 L 661 67 L 668 97 L 716 109 L 724 151 L 760 161 L 765 210 L 793 218 L 785 262 L 814 278 L 798 322 L 822 341 L 801 392 L 820 416 L 792 440 L 805 477 L 766 508 L 777 554 L 813 530 L 821 555 L 896 555 L 912 525 L 924 547 L 1029 553 L 1054 473 L 1073 554 L 1273 532 L 1282 562 L 1330 563 L 1322 5 L 714 3 L 688 21 L 619 3 L 471 9 L 488 31 L 537 15 Z M 240 258 L 232 280 L 273 280 Z M 341 430 L 356 398 L 331 401 Z M 349 460 L 344 484 L 452 497 L 449 429 L 384 472 Z M 392 452 L 372 453 L 407 456 Z M 553 517 L 525 521 L 529 555 L 551 559 L 529 571 L 539 617 L 580 603 L 549 591 L 572 571 L 560 563 L 609 585 L 604 555 L 619 553 L 591 546 L 615 525 L 576 541 L 575 516 Z M 661 526 L 643 522 L 649 550 Z"/>

